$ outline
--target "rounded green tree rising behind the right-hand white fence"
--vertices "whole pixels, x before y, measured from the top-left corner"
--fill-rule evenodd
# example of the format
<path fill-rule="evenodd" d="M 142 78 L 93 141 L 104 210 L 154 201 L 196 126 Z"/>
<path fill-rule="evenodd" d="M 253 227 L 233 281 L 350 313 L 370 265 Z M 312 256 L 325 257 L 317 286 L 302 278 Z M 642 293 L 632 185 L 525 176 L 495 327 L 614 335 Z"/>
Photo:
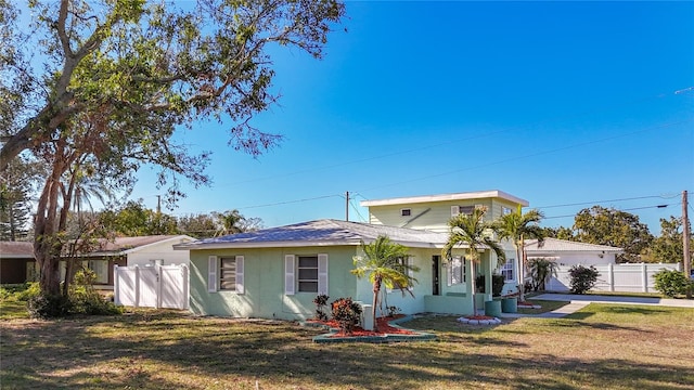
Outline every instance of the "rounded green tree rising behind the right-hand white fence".
<path fill-rule="evenodd" d="M 618 262 L 639 262 L 641 252 L 648 247 L 653 235 L 639 217 L 614 208 L 593 206 L 582 209 L 574 219 L 578 232 L 576 240 L 608 245 L 625 249 L 617 255 Z"/>

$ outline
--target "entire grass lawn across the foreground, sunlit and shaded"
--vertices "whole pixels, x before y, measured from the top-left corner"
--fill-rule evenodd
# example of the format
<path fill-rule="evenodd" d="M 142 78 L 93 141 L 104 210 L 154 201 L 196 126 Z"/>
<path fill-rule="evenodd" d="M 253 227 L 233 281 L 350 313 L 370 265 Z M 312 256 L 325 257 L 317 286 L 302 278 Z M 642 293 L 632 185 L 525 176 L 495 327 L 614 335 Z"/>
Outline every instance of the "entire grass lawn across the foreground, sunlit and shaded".
<path fill-rule="evenodd" d="M 291 322 L 138 310 L 0 321 L 2 389 L 689 389 L 694 310 L 590 304 L 494 327 L 426 316 L 432 342 L 311 342 Z"/>

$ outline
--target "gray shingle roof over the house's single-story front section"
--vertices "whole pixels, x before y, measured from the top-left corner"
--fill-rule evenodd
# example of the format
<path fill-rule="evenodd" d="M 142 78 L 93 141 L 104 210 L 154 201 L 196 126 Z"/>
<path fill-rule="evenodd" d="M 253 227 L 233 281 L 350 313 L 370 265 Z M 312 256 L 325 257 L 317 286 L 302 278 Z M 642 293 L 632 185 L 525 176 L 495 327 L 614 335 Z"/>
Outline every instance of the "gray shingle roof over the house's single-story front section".
<path fill-rule="evenodd" d="M 323 219 L 264 229 L 257 232 L 200 239 L 189 244 L 176 245 L 175 248 L 207 249 L 359 245 L 361 240 L 369 243 L 380 235 L 387 235 L 395 243 L 420 248 L 438 248 L 448 239 L 448 235 L 444 233 Z"/>

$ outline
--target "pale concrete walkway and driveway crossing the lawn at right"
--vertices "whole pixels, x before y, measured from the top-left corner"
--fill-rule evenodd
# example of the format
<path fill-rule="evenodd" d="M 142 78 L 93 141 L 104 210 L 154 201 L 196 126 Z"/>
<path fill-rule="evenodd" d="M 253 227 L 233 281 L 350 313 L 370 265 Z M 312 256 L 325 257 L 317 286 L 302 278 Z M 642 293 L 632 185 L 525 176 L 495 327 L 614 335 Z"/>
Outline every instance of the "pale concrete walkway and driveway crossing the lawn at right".
<path fill-rule="evenodd" d="M 519 314 L 519 313 L 502 313 L 504 318 L 536 317 L 536 318 L 561 318 L 567 314 L 571 314 L 581 310 L 590 303 L 615 303 L 615 304 L 645 304 L 645 306 L 665 306 L 674 308 L 692 308 L 694 309 L 694 300 L 686 299 L 665 299 L 665 298 L 641 298 L 641 297 L 617 297 L 617 296 L 597 296 L 597 295 L 570 295 L 570 294 L 542 294 L 535 296 L 532 299 L 568 301 L 562 308 L 542 314 Z"/>

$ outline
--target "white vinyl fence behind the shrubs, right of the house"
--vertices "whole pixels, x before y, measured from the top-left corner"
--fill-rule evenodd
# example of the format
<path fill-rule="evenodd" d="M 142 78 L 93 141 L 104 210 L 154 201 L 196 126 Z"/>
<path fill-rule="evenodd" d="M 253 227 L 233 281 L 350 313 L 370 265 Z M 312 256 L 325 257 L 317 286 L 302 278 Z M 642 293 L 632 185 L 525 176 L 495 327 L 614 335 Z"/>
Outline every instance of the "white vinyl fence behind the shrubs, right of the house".
<path fill-rule="evenodd" d="M 586 264 L 583 266 L 590 266 Z M 656 292 L 655 278 L 660 270 L 682 271 L 682 264 L 640 263 L 640 264 L 606 264 L 593 265 L 600 275 L 593 291 L 619 291 L 619 292 Z M 560 266 L 557 277 L 552 277 L 547 284 L 548 291 L 568 291 L 570 289 L 570 266 Z"/>

